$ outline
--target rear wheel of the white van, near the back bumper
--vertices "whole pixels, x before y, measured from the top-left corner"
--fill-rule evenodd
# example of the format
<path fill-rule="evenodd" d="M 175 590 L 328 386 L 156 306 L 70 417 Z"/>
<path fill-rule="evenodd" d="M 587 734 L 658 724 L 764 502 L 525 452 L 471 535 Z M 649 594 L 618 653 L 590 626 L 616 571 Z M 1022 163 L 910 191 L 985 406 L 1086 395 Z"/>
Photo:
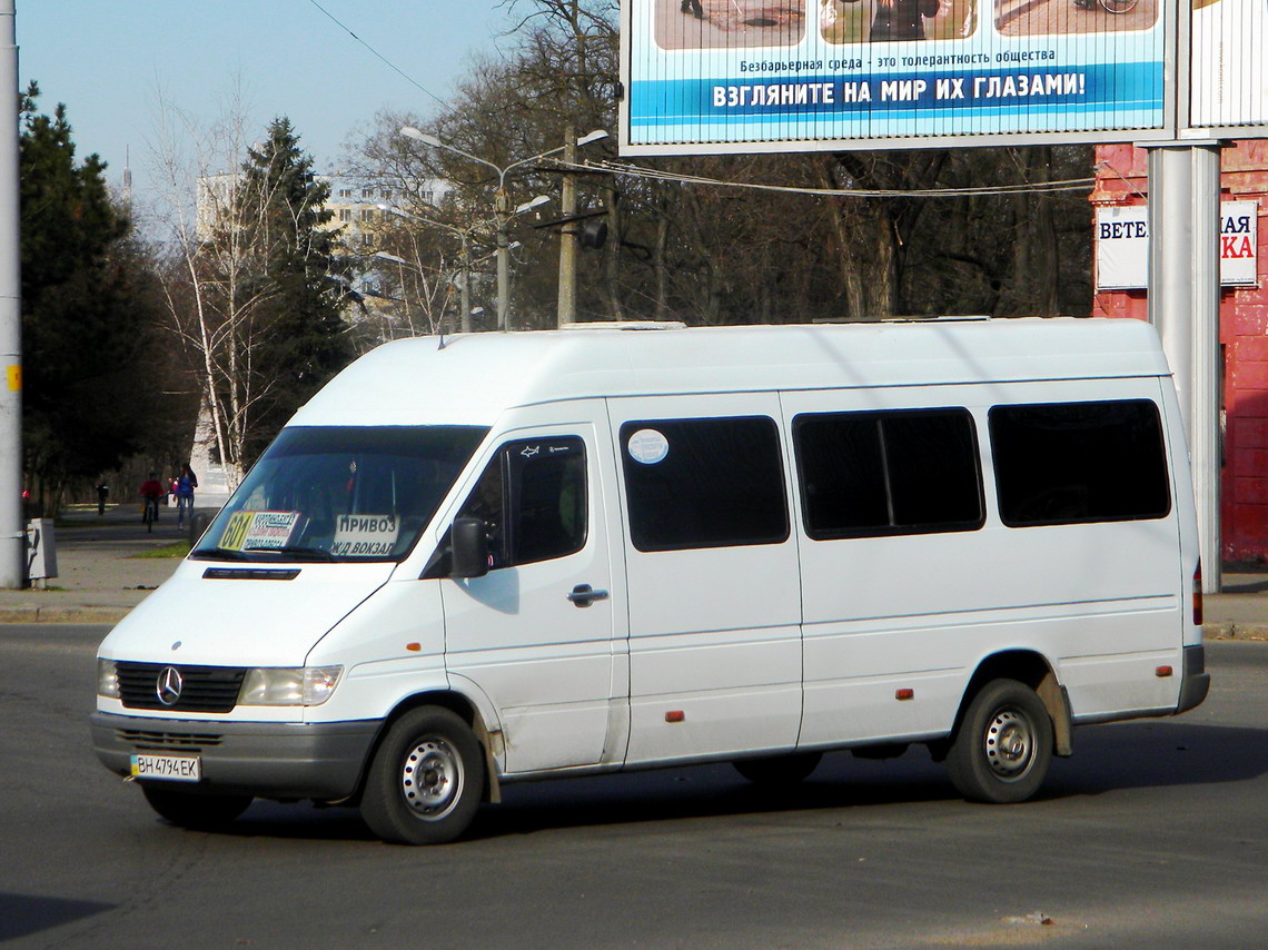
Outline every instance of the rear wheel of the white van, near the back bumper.
<path fill-rule="evenodd" d="M 970 802 L 1025 802 L 1052 764 L 1052 720 L 1035 690 L 992 680 L 974 696 L 947 753 L 951 781 Z"/>

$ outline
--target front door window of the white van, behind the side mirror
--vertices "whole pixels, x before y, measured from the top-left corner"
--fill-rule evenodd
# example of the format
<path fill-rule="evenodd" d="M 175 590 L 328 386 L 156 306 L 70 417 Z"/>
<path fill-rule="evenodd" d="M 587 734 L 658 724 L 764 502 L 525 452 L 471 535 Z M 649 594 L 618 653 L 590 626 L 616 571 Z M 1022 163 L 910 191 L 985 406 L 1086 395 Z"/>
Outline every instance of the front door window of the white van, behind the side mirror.
<path fill-rule="evenodd" d="M 586 545 L 586 444 L 576 436 L 507 443 L 459 517 L 488 525 L 492 568 L 574 554 Z"/>

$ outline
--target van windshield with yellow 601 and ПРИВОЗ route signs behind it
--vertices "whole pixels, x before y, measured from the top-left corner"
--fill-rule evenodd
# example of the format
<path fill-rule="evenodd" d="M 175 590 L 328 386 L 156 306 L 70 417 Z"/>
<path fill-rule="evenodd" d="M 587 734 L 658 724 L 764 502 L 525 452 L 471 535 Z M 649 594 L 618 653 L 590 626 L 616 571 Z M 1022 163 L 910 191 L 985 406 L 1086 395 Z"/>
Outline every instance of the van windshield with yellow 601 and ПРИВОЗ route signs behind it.
<path fill-rule="evenodd" d="M 191 557 L 399 561 L 487 431 L 481 426 L 283 429 Z"/>

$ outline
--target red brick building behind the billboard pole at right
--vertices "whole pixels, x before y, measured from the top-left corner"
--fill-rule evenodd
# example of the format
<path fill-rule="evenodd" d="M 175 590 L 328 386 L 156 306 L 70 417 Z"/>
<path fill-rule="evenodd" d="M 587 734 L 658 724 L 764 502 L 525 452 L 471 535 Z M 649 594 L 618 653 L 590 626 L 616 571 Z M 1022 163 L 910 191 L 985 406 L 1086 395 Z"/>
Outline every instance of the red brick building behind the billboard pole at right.
<path fill-rule="evenodd" d="M 1146 153 L 1130 145 L 1097 147 L 1097 207 L 1142 205 L 1149 193 Z M 1224 359 L 1224 558 L 1268 562 L 1268 141 L 1236 142 L 1221 157 L 1221 202 L 1253 200 L 1258 217 L 1254 287 L 1220 292 Z M 1099 288 L 1098 282 L 1097 287 Z M 1102 290 L 1094 316 L 1146 318 L 1145 290 Z"/>

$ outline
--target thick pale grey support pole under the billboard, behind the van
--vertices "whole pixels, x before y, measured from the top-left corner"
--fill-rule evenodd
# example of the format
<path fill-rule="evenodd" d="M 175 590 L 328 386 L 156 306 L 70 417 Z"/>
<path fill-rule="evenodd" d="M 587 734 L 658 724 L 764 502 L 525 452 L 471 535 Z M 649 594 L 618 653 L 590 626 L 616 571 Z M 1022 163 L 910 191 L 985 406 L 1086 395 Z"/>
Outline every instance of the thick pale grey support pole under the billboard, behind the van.
<path fill-rule="evenodd" d="M 1188 429 L 1202 590 L 1220 566 L 1219 141 L 1149 143 L 1149 322 L 1175 374 Z"/>

